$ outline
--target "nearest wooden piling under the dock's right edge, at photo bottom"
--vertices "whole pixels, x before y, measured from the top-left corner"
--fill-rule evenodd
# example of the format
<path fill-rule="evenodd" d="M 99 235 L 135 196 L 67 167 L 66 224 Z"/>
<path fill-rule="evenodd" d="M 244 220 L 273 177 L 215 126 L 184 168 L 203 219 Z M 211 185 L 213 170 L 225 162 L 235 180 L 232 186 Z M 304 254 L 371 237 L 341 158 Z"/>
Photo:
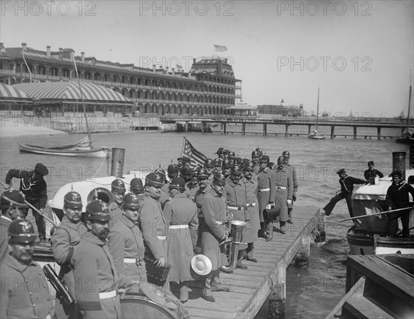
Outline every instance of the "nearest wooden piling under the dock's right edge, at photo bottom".
<path fill-rule="evenodd" d="M 268 298 L 268 319 L 284 319 L 284 302 L 286 300 L 286 264 L 277 264 L 277 281 Z"/>

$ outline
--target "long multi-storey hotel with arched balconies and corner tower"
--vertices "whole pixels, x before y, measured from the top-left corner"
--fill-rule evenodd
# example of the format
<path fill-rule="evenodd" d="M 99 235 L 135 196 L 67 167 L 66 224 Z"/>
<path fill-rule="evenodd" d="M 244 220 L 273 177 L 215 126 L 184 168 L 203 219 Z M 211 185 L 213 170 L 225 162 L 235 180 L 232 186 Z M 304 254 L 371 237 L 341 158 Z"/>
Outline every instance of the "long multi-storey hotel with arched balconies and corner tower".
<path fill-rule="evenodd" d="M 72 49 L 52 51 L 1 45 L 0 82 L 8 85 L 32 82 L 77 81 L 71 59 Z M 88 104 L 88 111 L 106 113 L 152 113 L 154 115 L 226 115 L 241 98 L 242 80 L 236 79 L 227 59 L 206 57 L 193 59 L 189 71 L 163 66 L 141 68 L 75 56 L 82 82 L 105 86 L 128 97 L 133 104 L 98 102 Z M 30 107 L 30 106 L 27 106 Z M 50 102 L 51 110 L 66 111 L 69 106 Z M 62 110 L 63 108 L 63 110 Z M 66 109 L 65 109 L 66 108 Z"/>

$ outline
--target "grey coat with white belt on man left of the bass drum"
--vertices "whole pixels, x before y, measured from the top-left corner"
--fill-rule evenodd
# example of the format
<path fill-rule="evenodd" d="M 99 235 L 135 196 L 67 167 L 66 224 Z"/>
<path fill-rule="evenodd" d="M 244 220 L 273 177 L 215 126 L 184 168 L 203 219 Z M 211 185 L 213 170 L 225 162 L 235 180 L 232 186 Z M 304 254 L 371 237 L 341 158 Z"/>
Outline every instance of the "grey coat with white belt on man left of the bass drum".
<path fill-rule="evenodd" d="M 117 274 L 108 245 L 89 231 L 72 256 L 75 299 L 83 319 L 121 318 L 119 296 L 99 299 L 99 293 L 125 288 L 132 280 Z"/>

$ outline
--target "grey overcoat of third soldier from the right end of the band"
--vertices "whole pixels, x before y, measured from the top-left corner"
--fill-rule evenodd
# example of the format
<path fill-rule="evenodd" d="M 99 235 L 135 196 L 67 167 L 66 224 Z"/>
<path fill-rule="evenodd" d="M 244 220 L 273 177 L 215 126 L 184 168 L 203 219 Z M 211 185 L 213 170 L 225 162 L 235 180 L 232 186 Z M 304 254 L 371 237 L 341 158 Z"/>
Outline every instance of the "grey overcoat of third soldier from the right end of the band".
<path fill-rule="evenodd" d="M 264 222 L 263 210 L 266 209 L 269 202 L 275 201 L 276 195 L 276 177 L 275 171 L 266 167 L 259 171 L 257 175 L 257 200 L 259 202 L 260 222 Z M 270 191 L 260 191 L 261 189 L 270 189 Z"/>

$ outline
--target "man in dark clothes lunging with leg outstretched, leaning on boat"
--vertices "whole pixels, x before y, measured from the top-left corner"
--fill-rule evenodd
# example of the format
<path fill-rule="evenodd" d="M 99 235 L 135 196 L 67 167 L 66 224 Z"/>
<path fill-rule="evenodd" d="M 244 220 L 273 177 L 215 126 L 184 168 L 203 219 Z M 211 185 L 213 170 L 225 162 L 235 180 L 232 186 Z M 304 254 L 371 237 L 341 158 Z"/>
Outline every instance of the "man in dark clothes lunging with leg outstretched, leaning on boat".
<path fill-rule="evenodd" d="M 339 171 L 337 171 L 337 175 L 339 175 L 339 184 L 341 184 L 341 191 L 339 194 L 332 197 L 331 201 L 328 202 L 328 204 L 326 204 L 326 206 L 324 207 L 324 215 L 331 215 L 336 203 L 339 202 L 339 200 L 343 200 L 345 198 L 346 204 L 348 205 L 349 215 L 353 217 L 351 200 L 353 186 L 354 184 L 367 184 L 368 181 L 359 180 L 359 178 L 346 175 L 345 168 L 341 168 Z"/>

